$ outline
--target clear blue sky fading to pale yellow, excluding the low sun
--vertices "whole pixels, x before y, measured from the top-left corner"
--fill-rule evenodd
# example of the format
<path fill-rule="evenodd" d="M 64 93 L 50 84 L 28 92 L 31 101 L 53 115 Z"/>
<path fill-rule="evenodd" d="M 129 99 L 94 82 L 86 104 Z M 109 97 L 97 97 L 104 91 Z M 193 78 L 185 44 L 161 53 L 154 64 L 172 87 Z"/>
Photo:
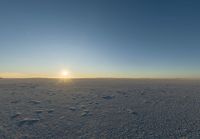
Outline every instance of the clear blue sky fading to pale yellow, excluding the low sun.
<path fill-rule="evenodd" d="M 198 0 L 0 0 L 0 76 L 199 78 Z"/>

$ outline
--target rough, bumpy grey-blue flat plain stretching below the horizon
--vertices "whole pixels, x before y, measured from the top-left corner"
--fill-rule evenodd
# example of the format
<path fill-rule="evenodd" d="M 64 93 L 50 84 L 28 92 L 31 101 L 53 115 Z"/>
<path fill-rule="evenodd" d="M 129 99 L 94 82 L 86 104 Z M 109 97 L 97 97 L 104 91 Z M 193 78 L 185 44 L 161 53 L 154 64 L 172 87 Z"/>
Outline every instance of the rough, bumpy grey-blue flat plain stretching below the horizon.
<path fill-rule="evenodd" d="M 0 139 L 79 138 L 198 139 L 200 80 L 0 80 Z"/>

